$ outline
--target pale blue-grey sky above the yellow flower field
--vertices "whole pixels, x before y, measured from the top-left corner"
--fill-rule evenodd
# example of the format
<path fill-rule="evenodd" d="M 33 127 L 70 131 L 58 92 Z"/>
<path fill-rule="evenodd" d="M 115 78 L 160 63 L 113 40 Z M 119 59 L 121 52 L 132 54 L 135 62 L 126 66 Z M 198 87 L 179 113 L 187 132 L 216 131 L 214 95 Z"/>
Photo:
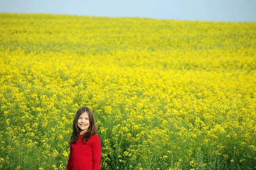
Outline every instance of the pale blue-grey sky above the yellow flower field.
<path fill-rule="evenodd" d="M 0 0 L 0 12 L 256 21 L 256 0 Z"/>

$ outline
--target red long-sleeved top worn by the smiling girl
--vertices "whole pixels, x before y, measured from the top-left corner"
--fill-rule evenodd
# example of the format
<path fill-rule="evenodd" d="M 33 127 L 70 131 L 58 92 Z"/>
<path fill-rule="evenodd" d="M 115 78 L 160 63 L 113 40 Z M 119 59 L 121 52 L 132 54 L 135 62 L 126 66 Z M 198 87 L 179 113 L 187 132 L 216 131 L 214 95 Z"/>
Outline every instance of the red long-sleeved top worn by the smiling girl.
<path fill-rule="evenodd" d="M 98 135 L 82 143 L 82 135 L 76 143 L 70 144 L 67 170 L 99 170 L 101 161 L 101 141 Z"/>

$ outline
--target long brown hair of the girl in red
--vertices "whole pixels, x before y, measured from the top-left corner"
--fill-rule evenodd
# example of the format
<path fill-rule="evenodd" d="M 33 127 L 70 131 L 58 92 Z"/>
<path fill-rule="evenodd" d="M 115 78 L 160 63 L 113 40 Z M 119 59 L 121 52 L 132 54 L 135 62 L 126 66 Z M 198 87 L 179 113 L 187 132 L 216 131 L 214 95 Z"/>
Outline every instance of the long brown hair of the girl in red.
<path fill-rule="evenodd" d="M 97 133 L 98 128 L 93 116 L 93 112 L 89 108 L 82 106 L 76 111 L 76 114 L 73 120 L 73 132 L 70 138 L 70 142 L 76 143 L 79 138 L 81 130 L 77 126 L 77 122 L 78 122 L 79 116 L 84 112 L 88 113 L 89 115 L 90 126 L 82 136 L 83 143 L 85 140 L 88 141 L 92 135 L 95 135 Z"/>

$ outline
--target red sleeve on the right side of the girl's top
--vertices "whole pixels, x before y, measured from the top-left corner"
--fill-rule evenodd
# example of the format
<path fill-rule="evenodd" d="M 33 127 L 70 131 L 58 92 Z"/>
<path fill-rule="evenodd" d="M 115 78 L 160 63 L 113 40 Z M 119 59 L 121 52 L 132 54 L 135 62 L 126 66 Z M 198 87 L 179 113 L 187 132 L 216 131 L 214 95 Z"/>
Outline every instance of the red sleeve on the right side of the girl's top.
<path fill-rule="evenodd" d="M 93 138 L 93 170 L 99 170 L 101 161 L 101 142 L 98 135 L 93 135 Z"/>

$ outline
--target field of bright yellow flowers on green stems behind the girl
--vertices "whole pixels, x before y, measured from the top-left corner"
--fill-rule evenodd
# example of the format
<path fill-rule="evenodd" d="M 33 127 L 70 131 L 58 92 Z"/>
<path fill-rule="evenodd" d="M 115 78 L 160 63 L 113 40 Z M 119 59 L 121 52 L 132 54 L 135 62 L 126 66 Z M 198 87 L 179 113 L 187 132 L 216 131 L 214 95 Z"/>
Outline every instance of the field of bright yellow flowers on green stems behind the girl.
<path fill-rule="evenodd" d="M 256 169 L 256 23 L 0 14 L 0 169 L 64 170 L 92 109 L 103 170 Z"/>

